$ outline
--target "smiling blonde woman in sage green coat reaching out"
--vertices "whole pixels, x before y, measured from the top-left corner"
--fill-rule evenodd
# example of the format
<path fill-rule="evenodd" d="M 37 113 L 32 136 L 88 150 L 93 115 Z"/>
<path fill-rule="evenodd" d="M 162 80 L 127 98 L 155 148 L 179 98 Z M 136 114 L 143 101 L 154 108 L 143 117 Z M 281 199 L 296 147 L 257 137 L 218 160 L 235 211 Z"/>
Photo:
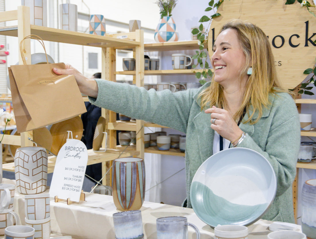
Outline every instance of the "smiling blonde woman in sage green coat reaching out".
<path fill-rule="evenodd" d="M 232 20 L 222 27 L 213 52 L 212 81 L 175 93 L 90 80 L 71 66 L 54 71 L 74 75 L 95 105 L 186 133 L 186 206 L 191 207 L 191 180 L 204 160 L 244 147 L 262 154 L 276 174 L 276 197 L 262 218 L 294 223 L 291 186 L 300 126 L 295 103 L 277 80 L 268 39 L 253 24 Z"/>

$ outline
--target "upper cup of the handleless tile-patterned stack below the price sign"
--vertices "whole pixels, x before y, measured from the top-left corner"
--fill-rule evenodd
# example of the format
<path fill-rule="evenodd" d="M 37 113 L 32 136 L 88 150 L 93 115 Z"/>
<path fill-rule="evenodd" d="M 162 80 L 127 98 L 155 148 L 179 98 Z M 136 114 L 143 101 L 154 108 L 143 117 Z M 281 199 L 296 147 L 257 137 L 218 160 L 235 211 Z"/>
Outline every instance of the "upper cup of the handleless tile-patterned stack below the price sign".
<path fill-rule="evenodd" d="M 25 195 L 25 216 L 28 220 L 42 220 L 50 216 L 49 193 Z"/>

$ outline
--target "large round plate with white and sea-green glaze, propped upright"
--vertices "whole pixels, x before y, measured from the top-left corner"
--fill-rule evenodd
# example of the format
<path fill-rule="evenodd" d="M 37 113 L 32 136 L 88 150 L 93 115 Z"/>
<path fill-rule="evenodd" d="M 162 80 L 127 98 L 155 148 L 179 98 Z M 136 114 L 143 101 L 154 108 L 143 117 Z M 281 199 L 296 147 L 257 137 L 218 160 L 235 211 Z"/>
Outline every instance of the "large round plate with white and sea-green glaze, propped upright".
<path fill-rule="evenodd" d="M 254 223 L 267 211 L 275 193 L 271 164 L 248 148 L 212 155 L 195 173 L 190 189 L 193 210 L 212 228 Z"/>

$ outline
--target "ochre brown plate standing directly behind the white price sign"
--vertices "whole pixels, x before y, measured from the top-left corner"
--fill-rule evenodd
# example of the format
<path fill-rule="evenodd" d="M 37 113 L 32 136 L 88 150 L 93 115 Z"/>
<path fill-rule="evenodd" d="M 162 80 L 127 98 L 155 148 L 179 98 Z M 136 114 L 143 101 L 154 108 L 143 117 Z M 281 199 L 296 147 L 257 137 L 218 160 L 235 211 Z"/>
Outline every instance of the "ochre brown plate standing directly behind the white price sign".
<path fill-rule="evenodd" d="M 58 154 L 59 149 L 66 143 L 68 137 L 67 130 L 72 131 L 72 137 L 81 140 L 83 133 L 83 124 L 80 116 L 53 124 L 50 132 L 52 134 L 52 153 Z"/>

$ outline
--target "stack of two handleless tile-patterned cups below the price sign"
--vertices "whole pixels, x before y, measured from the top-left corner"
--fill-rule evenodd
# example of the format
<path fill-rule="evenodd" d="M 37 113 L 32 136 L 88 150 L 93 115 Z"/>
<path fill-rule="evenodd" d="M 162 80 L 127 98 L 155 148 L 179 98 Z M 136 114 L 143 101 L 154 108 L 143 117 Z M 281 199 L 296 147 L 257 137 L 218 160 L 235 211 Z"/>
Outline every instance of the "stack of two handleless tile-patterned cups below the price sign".
<path fill-rule="evenodd" d="M 51 234 L 49 193 L 25 195 L 25 225 L 35 230 L 34 239 L 48 239 Z"/>

